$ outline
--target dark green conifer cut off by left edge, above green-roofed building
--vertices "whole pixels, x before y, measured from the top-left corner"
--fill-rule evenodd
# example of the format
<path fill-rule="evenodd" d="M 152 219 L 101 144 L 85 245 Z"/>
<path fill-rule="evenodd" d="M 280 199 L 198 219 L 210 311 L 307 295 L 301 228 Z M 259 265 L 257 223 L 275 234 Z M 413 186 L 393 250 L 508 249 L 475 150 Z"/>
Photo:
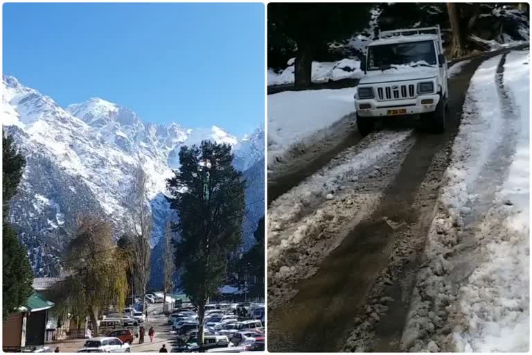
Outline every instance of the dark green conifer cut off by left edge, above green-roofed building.
<path fill-rule="evenodd" d="M 33 272 L 26 248 L 9 223 L 9 202 L 17 193 L 26 159 L 17 152 L 12 137 L 4 132 L 2 144 L 2 317 L 5 320 L 10 312 L 26 304 L 33 292 Z"/>

